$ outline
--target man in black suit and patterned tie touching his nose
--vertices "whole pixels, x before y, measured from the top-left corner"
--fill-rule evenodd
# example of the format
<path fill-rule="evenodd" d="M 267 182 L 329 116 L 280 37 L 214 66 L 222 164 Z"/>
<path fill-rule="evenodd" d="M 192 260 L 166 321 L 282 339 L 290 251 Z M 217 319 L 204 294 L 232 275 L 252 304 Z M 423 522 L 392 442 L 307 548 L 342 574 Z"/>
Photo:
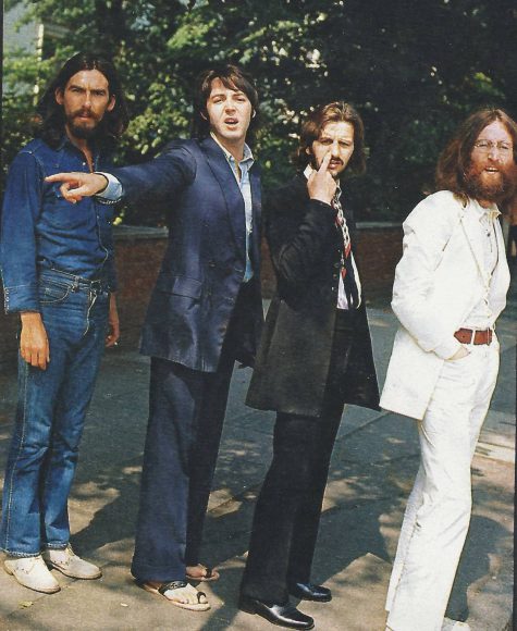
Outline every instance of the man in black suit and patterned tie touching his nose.
<path fill-rule="evenodd" d="M 379 405 L 354 222 L 340 186 L 346 169 L 365 168 L 358 113 L 342 102 L 313 111 L 301 127 L 298 165 L 300 172 L 266 203 L 278 294 L 247 403 L 278 416 L 239 606 L 275 624 L 311 629 L 312 618 L 288 595 L 332 597 L 310 582 L 310 569 L 343 407 Z"/>

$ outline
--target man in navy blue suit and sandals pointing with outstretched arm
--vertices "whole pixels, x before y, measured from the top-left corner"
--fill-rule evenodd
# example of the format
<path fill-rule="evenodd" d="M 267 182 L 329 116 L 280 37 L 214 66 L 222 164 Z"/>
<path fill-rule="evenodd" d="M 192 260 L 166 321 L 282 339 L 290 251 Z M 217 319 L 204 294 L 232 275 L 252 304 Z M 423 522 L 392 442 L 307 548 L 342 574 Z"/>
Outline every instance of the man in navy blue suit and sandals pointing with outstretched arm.
<path fill-rule="evenodd" d="M 70 201 L 98 195 L 168 200 L 170 237 L 141 338 L 151 356 L 149 424 L 132 573 L 187 609 L 209 608 L 187 580 L 214 580 L 199 564 L 205 514 L 235 360 L 253 362 L 262 324 L 260 175 L 246 135 L 258 95 L 239 67 L 201 73 L 194 139 L 110 174 L 69 173 Z"/>

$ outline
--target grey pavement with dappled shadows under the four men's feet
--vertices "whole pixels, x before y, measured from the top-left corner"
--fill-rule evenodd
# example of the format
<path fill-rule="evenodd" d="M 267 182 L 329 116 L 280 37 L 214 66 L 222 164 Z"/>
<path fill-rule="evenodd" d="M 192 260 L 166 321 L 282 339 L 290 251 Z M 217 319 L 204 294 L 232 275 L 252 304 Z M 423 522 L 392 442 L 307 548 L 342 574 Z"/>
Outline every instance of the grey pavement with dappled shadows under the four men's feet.
<path fill-rule="evenodd" d="M 514 305 L 515 307 L 515 305 Z M 497 388 L 473 460 L 473 516 L 451 598 L 472 631 L 509 631 L 513 604 L 515 309 L 502 318 Z M 370 309 L 379 381 L 395 332 L 389 309 Z M 57 574 L 61 592 L 26 590 L 0 569 L 0 629 L 268 630 L 236 607 L 253 509 L 271 455 L 273 415 L 246 408 L 248 369 L 233 378 L 205 531 L 202 560 L 221 580 L 204 586 L 212 604 L 190 613 L 135 586 L 133 552 L 147 418 L 148 360 L 123 346 L 107 354 L 85 429 L 70 500 L 74 548 L 102 566 L 98 581 Z M 14 374 L 0 375 L 0 467 L 15 401 Z M 403 511 L 418 465 L 414 422 L 349 406 L 336 442 L 312 579 L 330 604 L 301 603 L 319 631 L 383 631 L 384 598 Z M 418 630 L 415 630 L 418 631 Z"/>

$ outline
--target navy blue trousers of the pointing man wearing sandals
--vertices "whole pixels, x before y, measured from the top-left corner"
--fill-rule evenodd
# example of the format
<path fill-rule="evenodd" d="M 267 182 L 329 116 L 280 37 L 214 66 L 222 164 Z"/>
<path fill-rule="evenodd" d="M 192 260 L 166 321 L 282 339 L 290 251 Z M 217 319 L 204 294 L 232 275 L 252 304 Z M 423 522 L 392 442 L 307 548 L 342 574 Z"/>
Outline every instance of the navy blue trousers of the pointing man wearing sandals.
<path fill-rule="evenodd" d="M 149 421 L 131 567 L 141 581 L 183 581 L 185 566 L 199 561 L 246 300 L 243 287 L 216 372 L 151 359 Z"/>

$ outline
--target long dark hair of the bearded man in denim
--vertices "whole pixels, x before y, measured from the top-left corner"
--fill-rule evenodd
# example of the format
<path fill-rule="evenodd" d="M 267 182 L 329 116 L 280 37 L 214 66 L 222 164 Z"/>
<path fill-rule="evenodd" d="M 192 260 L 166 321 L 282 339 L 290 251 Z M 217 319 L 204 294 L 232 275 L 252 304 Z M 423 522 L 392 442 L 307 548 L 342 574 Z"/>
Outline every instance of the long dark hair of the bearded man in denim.
<path fill-rule="evenodd" d="M 57 102 L 56 91 L 64 91 L 71 77 L 84 70 L 97 70 L 102 73 L 108 79 L 110 97 L 115 99 L 113 109 L 110 112 L 106 111 L 99 123 L 97 138 L 100 141 L 115 140 L 130 124 L 127 104 L 115 66 L 94 52 L 77 52 L 65 62 L 36 106 L 39 119 L 36 134 L 51 147 L 59 145 L 65 126 L 63 107 Z"/>

